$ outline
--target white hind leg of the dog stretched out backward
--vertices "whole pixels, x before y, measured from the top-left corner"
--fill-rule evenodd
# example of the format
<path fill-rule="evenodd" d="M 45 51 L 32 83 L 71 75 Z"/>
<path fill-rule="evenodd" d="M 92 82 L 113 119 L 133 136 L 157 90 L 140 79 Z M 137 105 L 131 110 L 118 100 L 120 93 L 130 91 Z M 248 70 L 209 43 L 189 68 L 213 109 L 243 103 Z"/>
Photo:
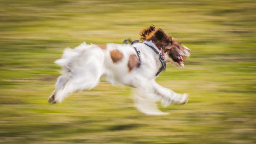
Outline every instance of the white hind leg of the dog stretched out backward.
<path fill-rule="evenodd" d="M 68 70 L 60 76 L 56 83 L 56 90 L 49 97 L 50 103 L 61 102 L 69 94 L 90 90 L 100 82 L 103 73 L 104 54 L 99 49 L 92 49 L 90 53 L 83 53 L 68 62 Z"/>

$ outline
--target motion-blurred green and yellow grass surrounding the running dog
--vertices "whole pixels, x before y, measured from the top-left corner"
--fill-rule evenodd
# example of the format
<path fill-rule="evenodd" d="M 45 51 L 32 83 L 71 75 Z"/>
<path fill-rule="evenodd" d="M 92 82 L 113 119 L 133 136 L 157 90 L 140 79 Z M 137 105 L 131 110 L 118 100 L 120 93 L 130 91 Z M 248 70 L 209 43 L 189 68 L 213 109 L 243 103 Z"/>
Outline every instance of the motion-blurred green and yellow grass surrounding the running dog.
<path fill-rule="evenodd" d="M 254 0 L 1 0 L 0 143 L 255 143 L 255 14 Z M 130 87 L 105 79 L 47 103 L 66 47 L 121 44 L 151 24 L 192 50 L 156 80 L 187 105 L 144 115 Z"/>

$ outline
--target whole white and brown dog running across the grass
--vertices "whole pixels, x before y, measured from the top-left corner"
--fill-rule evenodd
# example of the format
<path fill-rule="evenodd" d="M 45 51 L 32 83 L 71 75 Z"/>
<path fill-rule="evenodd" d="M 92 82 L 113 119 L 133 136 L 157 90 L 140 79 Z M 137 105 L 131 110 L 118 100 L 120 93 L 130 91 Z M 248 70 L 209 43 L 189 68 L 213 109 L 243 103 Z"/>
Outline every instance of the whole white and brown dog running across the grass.
<path fill-rule="evenodd" d="M 135 105 L 145 114 L 168 114 L 156 107 L 158 100 L 162 100 L 163 106 L 187 103 L 188 94 L 164 88 L 155 82 L 155 78 L 165 68 L 165 61 L 184 67 L 183 60 L 190 55 L 190 50 L 153 25 L 143 29 L 140 36 L 142 43 L 82 43 L 74 49 L 67 48 L 62 59 L 55 61 L 62 66 L 62 75 L 58 77 L 56 89 L 48 101 L 61 102 L 73 92 L 92 89 L 104 76 L 112 84 L 134 87 Z"/>

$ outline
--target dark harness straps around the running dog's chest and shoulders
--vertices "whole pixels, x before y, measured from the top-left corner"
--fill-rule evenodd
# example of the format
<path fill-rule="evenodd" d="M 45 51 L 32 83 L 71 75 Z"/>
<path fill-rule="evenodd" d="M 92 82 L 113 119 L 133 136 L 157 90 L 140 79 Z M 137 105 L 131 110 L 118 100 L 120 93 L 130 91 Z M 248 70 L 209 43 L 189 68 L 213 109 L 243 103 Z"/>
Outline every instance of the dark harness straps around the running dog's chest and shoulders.
<path fill-rule="evenodd" d="M 127 44 L 127 43 L 126 43 L 127 41 L 129 41 L 129 42 L 131 43 L 131 45 L 132 45 L 132 44 L 135 44 L 135 43 L 138 43 L 138 42 L 141 42 L 141 41 L 139 41 L 139 40 L 131 41 L 130 39 L 124 39 L 124 44 Z M 144 43 L 144 44 L 145 44 L 145 43 Z M 159 60 L 160 60 L 160 62 L 161 62 L 161 64 L 162 64 L 162 67 L 159 68 L 158 72 L 156 73 L 156 76 L 158 76 L 159 73 L 162 72 L 162 71 L 165 69 L 165 67 L 166 67 L 166 63 L 165 63 L 165 60 L 164 60 L 164 55 L 163 55 L 161 52 L 158 52 L 153 46 L 148 45 L 148 44 L 146 44 L 146 45 L 147 45 L 148 47 L 150 47 L 154 52 L 156 52 L 157 55 L 159 55 Z M 140 50 L 139 50 L 137 47 L 135 47 L 135 46 L 133 46 L 133 48 L 135 49 L 135 51 L 136 51 L 136 53 L 137 53 L 137 56 L 138 56 L 138 58 L 139 58 L 139 64 L 138 64 L 137 67 L 140 67 L 140 64 L 141 64 L 141 60 L 140 60 Z"/>

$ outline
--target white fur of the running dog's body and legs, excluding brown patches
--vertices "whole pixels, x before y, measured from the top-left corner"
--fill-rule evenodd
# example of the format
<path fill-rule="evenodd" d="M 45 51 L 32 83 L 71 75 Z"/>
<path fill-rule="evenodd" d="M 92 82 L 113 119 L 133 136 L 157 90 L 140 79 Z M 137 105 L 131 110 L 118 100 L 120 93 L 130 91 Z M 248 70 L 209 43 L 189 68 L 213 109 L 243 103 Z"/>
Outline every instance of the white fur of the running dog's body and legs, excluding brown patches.
<path fill-rule="evenodd" d="M 145 41 L 157 49 L 152 41 Z M 161 100 L 167 107 L 171 103 L 184 104 L 188 101 L 188 94 L 178 94 L 162 87 L 155 82 L 156 73 L 161 67 L 158 55 L 146 44 L 135 43 L 141 53 L 141 65 L 132 71 L 128 69 L 128 60 L 131 54 L 137 55 L 130 44 L 107 44 L 101 49 L 94 44 L 82 43 L 74 49 L 67 48 L 62 59 L 55 63 L 62 66 L 62 75 L 58 77 L 53 102 L 61 102 L 65 97 L 75 91 L 89 90 L 100 82 L 105 76 L 112 84 L 125 84 L 135 88 L 134 102 L 139 111 L 148 115 L 166 115 L 161 112 L 155 102 Z M 113 63 L 110 51 L 118 50 L 123 58 Z M 159 51 L 160 52 L 160 51 Z M 172 62 L 167 55 L 166 61 Z M 50 96 L 51 97 L 51 96 Z"/>

